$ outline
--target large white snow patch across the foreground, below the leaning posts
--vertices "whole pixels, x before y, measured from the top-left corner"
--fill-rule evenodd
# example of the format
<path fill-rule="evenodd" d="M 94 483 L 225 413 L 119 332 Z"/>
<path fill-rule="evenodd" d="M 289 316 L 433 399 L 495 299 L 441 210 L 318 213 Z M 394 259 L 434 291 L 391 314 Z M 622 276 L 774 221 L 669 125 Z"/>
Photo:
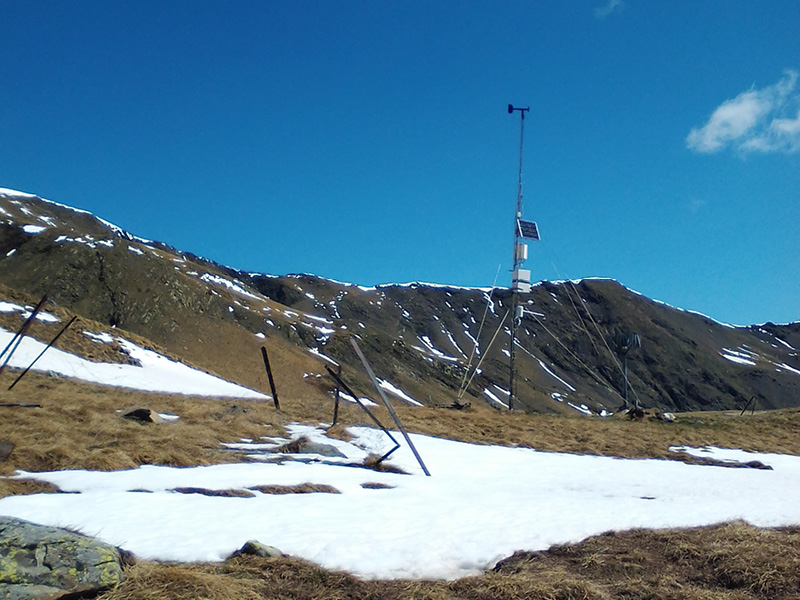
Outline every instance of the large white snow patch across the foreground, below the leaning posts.
<path fill-rule="evenodd" d="M 354 441 L 321 439 L 350 460 L 382 452 L 380 431 L 352 428 Z M 395 436 L 400 439 L 399 435 Z M 457 578 L 515 550 L 542 550 L 608 530 L 691 527 L 744 519 L 800 524 L 800 457 L 693 450 L 759 460 L 773 470 L 688 465 L 481 446 L 412 435 L 432 476 L 403 446 L 391 463 L 409 474 L 342 466 L 343 459 L 254 462 L 118 472 L 62 471 L 36 477 L 78 494 L 0 500 L 0 514 L 69 525 L 145 559 L 222 560 L 249 539 L 365 578 Z M 274 440 L 277 444 L 280 440 Z M 263 451 L 265 440 L 236 444 Z M 685 449 L 684 449 L 685 450 Z M 24 476 L 25 474 L 20 474 Z M 340 494 L 209 497 L 170 491 L 328 484 Z M 365 483 L 390 488 L 369 489 Z M 135 491 L 134 491 L 135 490 Z"/>

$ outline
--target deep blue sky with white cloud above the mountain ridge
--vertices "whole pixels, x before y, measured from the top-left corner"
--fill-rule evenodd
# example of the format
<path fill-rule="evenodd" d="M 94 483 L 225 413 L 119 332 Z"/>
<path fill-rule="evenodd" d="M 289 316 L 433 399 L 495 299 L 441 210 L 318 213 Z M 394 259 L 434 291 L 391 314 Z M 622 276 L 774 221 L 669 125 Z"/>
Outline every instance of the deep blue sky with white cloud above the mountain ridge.
<path fill-rule="evenodd" d="M 800 320 L 800 3 L 0 4 L 0 186 L 252 271 Z"/>

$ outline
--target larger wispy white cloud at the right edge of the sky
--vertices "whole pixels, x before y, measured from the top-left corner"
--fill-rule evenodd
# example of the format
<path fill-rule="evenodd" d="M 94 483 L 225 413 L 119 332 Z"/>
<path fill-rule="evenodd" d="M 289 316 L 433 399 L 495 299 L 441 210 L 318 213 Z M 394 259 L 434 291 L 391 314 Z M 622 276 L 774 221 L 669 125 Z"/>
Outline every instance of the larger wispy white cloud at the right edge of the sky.
<path fill-rule="evenodd" d="M 703 153 L 728 146 L 742 152 L 797 152 L 800 150 L 797 79 L 797 71 L 787 70 L 774 85 L 751 89 L 726 100 L 705 125 L 689 132 L 686 147 Z"/>

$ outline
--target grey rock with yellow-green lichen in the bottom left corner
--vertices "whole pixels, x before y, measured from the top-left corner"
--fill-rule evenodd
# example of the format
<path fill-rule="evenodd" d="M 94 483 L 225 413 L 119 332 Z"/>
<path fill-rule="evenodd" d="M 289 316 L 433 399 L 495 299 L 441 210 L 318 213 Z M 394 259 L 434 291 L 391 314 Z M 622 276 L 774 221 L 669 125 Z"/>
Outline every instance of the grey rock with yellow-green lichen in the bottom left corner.
<path fill-rule="evenodd" d="M 91 592 L 121 579 L 121 557 L 114 546 L 66 529 L 0 517 L 0 600 Z"/>

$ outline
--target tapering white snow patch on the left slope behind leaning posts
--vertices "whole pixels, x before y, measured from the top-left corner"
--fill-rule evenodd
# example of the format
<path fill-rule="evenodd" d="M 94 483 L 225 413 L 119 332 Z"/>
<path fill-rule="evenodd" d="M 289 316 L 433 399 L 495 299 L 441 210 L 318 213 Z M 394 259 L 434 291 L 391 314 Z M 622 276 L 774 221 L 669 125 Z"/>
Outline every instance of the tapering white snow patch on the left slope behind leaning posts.
<path fill-rule="evenodd" d="M 7 303 L 5 303 L 7 304 Z M 41 318 L 43 315 L 38 315 Z M 0 349 L 5 348 L 14 334 L 0 328 Z M 114 338 L 108 332 L 92 337 L 97 343 L 111 343 Z M 35 371 L 57 373 L 91 383 L 125 387 L 147 392 L 187 394 L 196 396 L 225 396 L 266 400 L 260 392 L 236 385 L 219 377 L 209 375 L 187 365 L 170 360 L 152 350 L 137 346 L 121 337 L 116 338 L 120 347 L 139 365 L 96 363 L 85 360 L 58 348 L 50 348 L 36 362 Z M 8 365 L 24 369 L 44 350 L 45 344 L 25 337 L 14 352 Z M 5 360 L 5 356 L 3 356 Z"/>

